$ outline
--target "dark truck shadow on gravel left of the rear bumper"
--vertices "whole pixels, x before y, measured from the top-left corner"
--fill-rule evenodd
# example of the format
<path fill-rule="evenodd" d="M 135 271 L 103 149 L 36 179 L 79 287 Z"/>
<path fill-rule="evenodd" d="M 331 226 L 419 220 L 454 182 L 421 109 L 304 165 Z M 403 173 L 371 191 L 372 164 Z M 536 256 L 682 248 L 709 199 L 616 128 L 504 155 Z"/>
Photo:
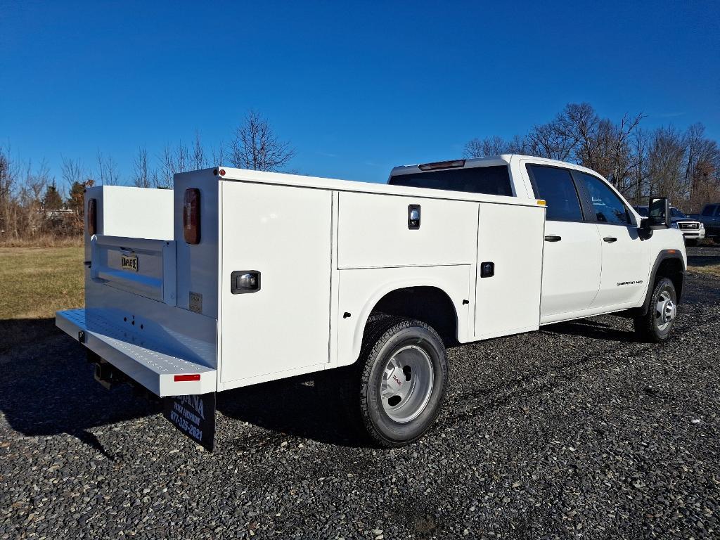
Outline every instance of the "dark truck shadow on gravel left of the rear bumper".
<path fill-rule="evenodd" d="M 0 410 L 26 437 L 67 433 L 114 459 L 91 428 L 160 412 L 127 386 L 105 390 L 84 348 L 55 328 L 54 319 L 0 320 Z"/>

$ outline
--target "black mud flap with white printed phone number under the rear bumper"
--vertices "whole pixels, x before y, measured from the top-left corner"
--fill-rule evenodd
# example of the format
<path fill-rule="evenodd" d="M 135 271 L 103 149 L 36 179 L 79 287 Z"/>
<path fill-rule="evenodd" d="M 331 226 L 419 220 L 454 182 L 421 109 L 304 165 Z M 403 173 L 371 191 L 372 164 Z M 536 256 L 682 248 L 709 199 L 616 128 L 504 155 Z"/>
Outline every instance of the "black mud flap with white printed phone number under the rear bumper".
<path fill-rule="evenodd" d="M 163 397 L 163 415 L 204 449 L 215 449 L 215 392 Z"/>

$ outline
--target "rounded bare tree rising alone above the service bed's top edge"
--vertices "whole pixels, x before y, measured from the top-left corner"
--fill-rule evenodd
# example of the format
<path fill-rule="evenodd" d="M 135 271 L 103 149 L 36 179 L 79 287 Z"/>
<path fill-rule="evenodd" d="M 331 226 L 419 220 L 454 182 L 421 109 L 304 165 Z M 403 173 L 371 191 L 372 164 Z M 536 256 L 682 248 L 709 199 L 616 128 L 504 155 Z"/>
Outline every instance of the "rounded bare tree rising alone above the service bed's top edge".
<path fill-rule="evenodd" d="M 279 171 L 292 159 L 295 150 L 277 138 L 269 122 L 251 111 L 230 142 L 230 163 L 255 171 Z"/>

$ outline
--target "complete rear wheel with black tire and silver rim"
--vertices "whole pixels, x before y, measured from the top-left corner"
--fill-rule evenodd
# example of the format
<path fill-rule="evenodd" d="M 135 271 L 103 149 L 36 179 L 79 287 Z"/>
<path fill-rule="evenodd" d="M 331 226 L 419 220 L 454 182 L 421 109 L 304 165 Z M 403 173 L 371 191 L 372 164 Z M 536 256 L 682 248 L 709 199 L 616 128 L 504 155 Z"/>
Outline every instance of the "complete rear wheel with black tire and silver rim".
<path fill-rule="evenodd" d="M 431 326 L 402 318 L 369 323 L 358 367 L 356 403 L 374 443 L 405 446 L 428 431 L 448 379 L 445 346 Z"/>

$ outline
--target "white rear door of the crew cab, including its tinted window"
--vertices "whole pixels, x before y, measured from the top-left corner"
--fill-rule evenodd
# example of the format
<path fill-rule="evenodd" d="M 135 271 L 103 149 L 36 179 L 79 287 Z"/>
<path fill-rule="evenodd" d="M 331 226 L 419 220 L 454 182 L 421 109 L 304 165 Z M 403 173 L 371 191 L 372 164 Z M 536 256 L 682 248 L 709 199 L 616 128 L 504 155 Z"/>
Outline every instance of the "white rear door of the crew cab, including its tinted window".
<path fill-rule="evenodd" d="M 585 221 L 570 170 L 528 163 L 527 171 L 536 197 L 547 204 L 541 320 L 587 310 L 600 287 L 598 227 Z"/>

